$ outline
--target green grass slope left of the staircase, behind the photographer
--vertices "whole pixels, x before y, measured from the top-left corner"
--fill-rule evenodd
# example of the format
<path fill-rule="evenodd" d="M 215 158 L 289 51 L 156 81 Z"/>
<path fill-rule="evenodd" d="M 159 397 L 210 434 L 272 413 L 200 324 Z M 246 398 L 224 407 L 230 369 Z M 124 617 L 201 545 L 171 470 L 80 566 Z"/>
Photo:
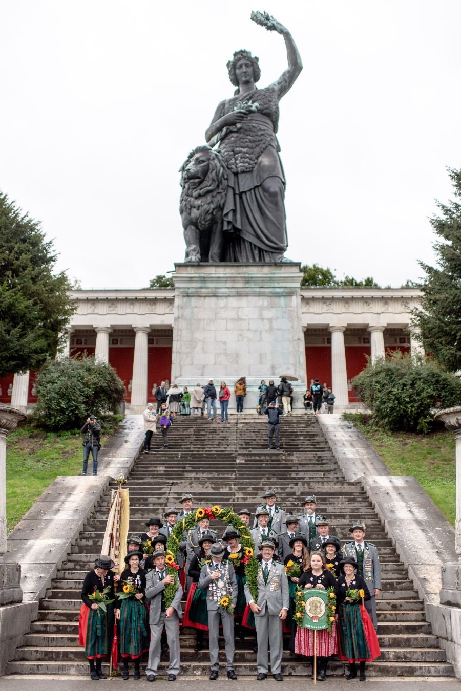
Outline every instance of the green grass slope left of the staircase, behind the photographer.
<path fill-rule="evenodd" d="M 101 443 L 110 438 L 121 415 L 114 416 Z M 78 430 L 45 432 L 30 425 L 17 428 L 6 439 L 6 522 L 8 533 L 57 475 L 82 472 L 82 439 Z M 91 459 L 91 456 L 90 456 Z"/>

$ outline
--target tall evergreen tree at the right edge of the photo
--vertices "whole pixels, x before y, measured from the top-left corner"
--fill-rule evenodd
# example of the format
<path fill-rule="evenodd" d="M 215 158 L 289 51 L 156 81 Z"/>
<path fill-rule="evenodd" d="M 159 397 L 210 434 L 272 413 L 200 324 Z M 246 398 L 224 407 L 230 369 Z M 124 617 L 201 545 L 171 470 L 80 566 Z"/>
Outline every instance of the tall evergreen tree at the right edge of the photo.
<path fill-rule="evenodd" d="M 424 350 L 452 372 L 461 370 L 461 170 L 448 169 L 455 200 L 437 201 L 440 216 L 431 218 L 438 267 L 420 262 L 426 272 L 421 285 L 421 309 L 413 323 L 421 332 Z M 453 401 L 453 405 L 460 401 Z"/>

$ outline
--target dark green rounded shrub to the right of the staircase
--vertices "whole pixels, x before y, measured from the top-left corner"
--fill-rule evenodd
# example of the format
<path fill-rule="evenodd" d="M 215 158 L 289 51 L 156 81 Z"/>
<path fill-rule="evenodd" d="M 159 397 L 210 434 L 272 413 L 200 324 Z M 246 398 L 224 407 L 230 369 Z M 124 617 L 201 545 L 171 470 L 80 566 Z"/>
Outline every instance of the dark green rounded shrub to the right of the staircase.
<path fill-rule="evenodd" d="M 433 361 L 399 350 L 368 365 L 352 381 L 357 397 L 370 408 L 375 424 L 394 432 L 426 433 L 434 408 L 461 404 L 460 377 Z"/>

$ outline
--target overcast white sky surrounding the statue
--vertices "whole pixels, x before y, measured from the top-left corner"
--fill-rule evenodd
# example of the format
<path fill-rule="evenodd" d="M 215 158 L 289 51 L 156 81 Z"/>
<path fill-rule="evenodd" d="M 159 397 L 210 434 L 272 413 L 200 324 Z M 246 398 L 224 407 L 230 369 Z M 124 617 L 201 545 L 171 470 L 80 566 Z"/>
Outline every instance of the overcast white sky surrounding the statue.
<path fill-rule="evenodd" d="M 0 189 L 82 287 L 144 287 L 184 258 L 178 169 L 237 48 L 281 101 L 287 256 L 398 287 L 433 261 L 428 216 L 461 166 L 459 0 L 1 0 Z"/>

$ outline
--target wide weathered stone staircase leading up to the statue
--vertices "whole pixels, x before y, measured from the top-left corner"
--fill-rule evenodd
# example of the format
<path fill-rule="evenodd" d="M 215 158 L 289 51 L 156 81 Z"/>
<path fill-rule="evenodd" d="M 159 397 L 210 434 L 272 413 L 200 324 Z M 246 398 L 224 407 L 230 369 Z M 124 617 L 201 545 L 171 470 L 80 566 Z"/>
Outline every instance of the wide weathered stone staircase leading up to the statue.
<path fill-rule="evenodd" d="M 454 676 L 391 540 L 361 486 L 344 480 L 317 420 L 313 416 L 284 417 L 280 452 L 267 452 L 266 433 L 265 417 L 254 415 L 232 416 L 229 424 L 177 418 L 169 432 L 169 448 L 162 447 L 160 434 L 154 435 L 155 453 L 141 455 L 129 477 L 130 533 L 144 531 L 150 515 L 162 515 L 166 507 L 180 507 L 183 491 L 193 493 L 194 507 L 220 504 L 254 511 L 263 491 L 274 488 L 280 504 L 296 513 L 302 511 L 306 493 L 313 491 L 319 513 L 328 516 L 332 531 L 347 540 L 352 521 L 364 520 L 367 539 L 379 550 L 383 589 L 377 600 L 377 617 L 382 654 L 368 665 L 369 676 Z M 108 511 L 109 493 L 41 600 L 39 618 L 17 649 L 16 659 L 8 664 L 7 674 L 88 673 L 84 651 L 78 646 L 79 594 L 84 574 L 100 553 Z M 223 641 L 221 644 L 223 647 Z M 251 634 L 244 641 L 236 638 L 237 674 L 256 674 L 253 644 Z M 194 645 L 194 630 L 182 630 L 181 673 L 208 674 L 208 650 L 196 653 Z M 288 639 L 284 647 L 288 648 Z M 166 667 L 162 659 L 160 674 Z M 343 671 L 342 663 L 330 662 L 329 674 Z M 285 650 L 282 672 L 305 674 L 305 665 Z"/>

